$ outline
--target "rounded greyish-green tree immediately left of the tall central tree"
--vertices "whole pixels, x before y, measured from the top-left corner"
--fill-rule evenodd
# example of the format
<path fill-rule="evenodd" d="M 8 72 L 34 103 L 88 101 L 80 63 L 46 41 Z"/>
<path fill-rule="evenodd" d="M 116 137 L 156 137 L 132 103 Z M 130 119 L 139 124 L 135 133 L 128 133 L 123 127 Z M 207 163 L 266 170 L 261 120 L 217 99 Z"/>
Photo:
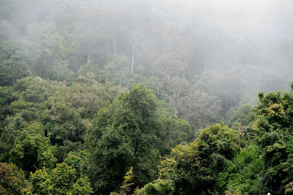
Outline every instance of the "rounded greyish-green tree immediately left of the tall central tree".
<path fill-rule="evenodd" d="M 106 95 L 104 87 L 95 83 L 72 84 L 70 87 L 59 88 L 45 101 L 46 108 L 42 112 L 42 120 L 47 121 L 45 129 L 52 142 L 62 145 L 65 141 L 82 142 L 86 127 L 91 118 L 103 105 Z M 69 143 L 69 142 L 68 142 Z M 77 148 L 72 148 L 74 150 Z"/>

